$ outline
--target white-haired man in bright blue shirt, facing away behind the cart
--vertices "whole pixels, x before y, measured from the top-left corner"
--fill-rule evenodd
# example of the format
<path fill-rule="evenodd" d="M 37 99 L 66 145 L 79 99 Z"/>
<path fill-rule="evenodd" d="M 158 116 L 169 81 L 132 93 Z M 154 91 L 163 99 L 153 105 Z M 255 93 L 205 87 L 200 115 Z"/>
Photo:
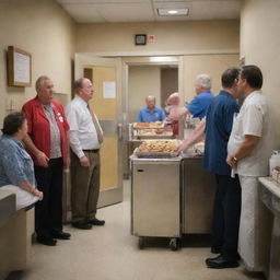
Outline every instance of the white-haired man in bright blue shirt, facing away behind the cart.
<path fill-rule="evenodd" d="M 211 78 L 208 74 L 199 74 L 195 81 L 196 96 L 194 100 L 185 105 L 184 107 L 174 106 L 171 110 L 171 117 L 173 119 L 179 119 L 191 115 L 194 118 L 202 119 L 207 114 L 207 108 L 214 95 L 210 92 L 211 90 Z M 171 105 L 176 105 L 178 96 L 172 94 L 170 96 Z"/>

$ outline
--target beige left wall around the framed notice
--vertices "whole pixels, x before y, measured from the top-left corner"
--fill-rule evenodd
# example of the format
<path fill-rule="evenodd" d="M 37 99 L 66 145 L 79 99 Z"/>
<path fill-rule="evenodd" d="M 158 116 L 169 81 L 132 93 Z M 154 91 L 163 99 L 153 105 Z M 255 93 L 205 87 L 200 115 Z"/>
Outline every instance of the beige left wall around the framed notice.
<path fill-rule="evenodd" d="M 35 96 L 34 82 L 49 75 L 57 92 L 71 91 L 71 60 L 74 54 L 74 22 L 52 0 L 0 1 L 0 127 L 5 104 L 15 109 Z M 5 51 L 13 45 L 32 54 L 32 88 L 7 85 Z M 68 95 L 59 96 L 68 101 Z"/>

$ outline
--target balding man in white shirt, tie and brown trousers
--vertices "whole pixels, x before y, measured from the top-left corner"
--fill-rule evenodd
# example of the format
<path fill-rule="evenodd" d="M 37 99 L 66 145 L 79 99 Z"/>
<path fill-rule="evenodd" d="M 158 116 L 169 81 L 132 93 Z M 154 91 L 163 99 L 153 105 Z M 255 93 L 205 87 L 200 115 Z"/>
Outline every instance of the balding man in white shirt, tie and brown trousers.
<path fill-rule="evenodd" d="M 105 221 L 95 217 L 100 195 L 100 148 L 103 131 L 89 106 L 94 94 L 92 82 L 85 78 L 77 80 L 74 93 L 75 97 L 66 108 L 70 126 L 72 225 L 90 230 L 93 225 L 105 224 Z"/>

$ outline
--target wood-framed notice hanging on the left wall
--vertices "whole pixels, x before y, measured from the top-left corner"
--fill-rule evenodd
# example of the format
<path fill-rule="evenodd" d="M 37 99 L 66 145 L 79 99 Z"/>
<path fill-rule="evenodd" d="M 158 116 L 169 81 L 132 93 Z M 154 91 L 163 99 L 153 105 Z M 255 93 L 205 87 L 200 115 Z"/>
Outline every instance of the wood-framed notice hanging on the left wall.
<path fill-rule="evenodd" d="M 31 54 L 13 46 L 8 48 L 8 85 L 31 86 Z"/>

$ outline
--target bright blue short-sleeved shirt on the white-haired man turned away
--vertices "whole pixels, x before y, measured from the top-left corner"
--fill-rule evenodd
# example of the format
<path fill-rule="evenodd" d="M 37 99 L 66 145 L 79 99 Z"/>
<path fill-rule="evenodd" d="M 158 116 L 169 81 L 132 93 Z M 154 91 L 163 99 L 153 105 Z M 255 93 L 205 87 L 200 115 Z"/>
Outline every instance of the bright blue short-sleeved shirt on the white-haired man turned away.
<path fill-rule="evenodd" d="M 189 113 L 195 118 L 203 118 L 207 113 L 207 108 L 211 101 L 213 100 L 214 95 L 210 92 L 201 92 L 185 107 L 189 110 Z"/>

